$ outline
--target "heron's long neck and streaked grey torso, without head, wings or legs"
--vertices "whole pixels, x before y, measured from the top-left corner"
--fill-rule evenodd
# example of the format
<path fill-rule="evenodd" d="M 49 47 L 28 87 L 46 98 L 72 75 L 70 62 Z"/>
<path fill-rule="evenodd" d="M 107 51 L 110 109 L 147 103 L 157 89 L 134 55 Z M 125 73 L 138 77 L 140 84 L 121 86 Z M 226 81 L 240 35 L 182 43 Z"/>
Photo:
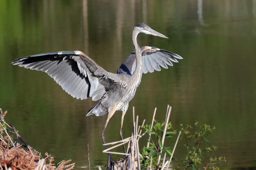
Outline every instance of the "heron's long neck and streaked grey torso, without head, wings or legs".
<path fill-rule="evenodd" d="M 104 115 L 108 113 L 109 108 L 113 106 L 115 106 L 115 111 L 120 110 L 123 113 L 126 113 L 129 102 L 135 96 L 136 89 L 139 86 L 142 77 L 142 56 L 141 49 L 136 40 L 137 35 L 138 32 L 133 31 L 132 44 L 134 45 L 135 53 L 137 55 L 134 73 L 129 75 L 126 72 L 122 72 L 121 69 L 117 70 L 116 76 L 121 80 L 111 86 L 111 90 L 103 95 L 101 101 L 92 107 L 87 115 Z"/>

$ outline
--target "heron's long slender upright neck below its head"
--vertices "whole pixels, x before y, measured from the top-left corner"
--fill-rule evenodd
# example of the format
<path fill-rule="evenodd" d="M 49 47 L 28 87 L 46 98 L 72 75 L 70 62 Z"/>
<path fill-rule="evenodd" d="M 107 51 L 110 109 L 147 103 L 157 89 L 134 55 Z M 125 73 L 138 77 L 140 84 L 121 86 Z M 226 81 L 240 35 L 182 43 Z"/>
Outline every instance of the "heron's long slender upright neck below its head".
<path fill-rule="evenodd" d="M 137 35 L 138 34 L 139 34 L 139 31 L 137 31 L 137 29 L 133 29 L 132 44 L 135 49 L 136 68 L 131 77 L 138 81 L 137 85 L 139 85 L 139 83 L 141 81 L 141 75 L 142 75 L 142 56 L 141 56 L 141 51 L 140 51 L 139 45 L 137 43 Z"/>

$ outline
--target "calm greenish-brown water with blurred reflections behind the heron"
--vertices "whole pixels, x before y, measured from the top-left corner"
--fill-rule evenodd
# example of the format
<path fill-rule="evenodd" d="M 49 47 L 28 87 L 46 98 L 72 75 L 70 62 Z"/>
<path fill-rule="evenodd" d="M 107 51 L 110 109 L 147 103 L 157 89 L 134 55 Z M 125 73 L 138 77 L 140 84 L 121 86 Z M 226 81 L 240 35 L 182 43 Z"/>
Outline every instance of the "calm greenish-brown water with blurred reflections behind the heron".
<path fill-rule="evenodd" d="M 132 127 L 132 106 L 141 121 L 211 124 L 209 140 L 226 157 L 224 169 L 256 168 L 256 0 L 63 0 L 0 1 L 0 107 L 31 146 L 56 162 L 72 159 L 76 169 L 106 164 L 100 131 L 106 117 L 85 117 L 95 102 L 76 100 L 47 74 L 10 62 L 18 57 L 80 50 L 115 72 L 133 51 L 133 26 L 144 22 L 169 39 L 139 35 L 140 46 L 157 46 L 184 60 L 168 70 L 143 75 L 124 120 Z M 106 140 L 119 140 L 116 113 Z M 174 140 L 174 139 L 173 139 Z M 183 141 L 179 145 L 182 148 Z M 182 149 L 176 151 L 182 154 Z"/>

